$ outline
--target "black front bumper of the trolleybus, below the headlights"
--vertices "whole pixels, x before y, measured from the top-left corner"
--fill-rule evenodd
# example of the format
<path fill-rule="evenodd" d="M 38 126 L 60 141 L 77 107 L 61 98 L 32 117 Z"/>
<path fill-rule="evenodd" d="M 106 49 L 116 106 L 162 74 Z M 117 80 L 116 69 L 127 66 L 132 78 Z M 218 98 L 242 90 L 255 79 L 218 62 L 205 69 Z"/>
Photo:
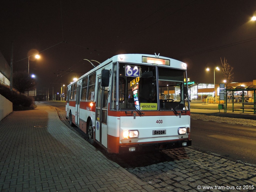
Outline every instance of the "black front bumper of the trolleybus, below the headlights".
<path fill-rule="evenodd" d="M 191 139 L 181 141 L 169 141 L 161 143 L 142 143 L 134 145 L 122 145 L 119 146 L 119 153 L 129 153 L 133 151 L 137 152 L 148 152 L 154 150 L 173 149 L 180 147 L 191 146 Z"/>

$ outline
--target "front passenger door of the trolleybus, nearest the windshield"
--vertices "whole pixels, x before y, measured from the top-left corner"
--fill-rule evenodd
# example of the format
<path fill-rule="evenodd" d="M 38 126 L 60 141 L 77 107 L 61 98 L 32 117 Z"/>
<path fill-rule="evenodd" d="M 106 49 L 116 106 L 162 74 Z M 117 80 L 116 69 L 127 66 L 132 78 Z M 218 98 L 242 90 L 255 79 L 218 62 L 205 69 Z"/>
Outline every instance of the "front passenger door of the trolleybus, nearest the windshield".
<path fill-rule="evenodd" d="M 96 105 L 95 139 L 104 147 L 107 145 L 107 116 L 108 116 L 108 89 L 101 87 L 101 77 L 98 78 L 98 93 Z"/>

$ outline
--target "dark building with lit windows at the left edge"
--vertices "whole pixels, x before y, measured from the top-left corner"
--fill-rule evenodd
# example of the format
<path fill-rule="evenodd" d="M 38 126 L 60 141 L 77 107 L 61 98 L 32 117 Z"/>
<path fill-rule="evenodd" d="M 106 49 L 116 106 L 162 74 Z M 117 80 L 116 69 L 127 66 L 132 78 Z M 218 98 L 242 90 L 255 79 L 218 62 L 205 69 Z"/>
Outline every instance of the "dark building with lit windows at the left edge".
<path fill-rule="evenodd" d="M 10 86 L 11 70 L 3 54 L 0 51 L 0 84 Z"/>

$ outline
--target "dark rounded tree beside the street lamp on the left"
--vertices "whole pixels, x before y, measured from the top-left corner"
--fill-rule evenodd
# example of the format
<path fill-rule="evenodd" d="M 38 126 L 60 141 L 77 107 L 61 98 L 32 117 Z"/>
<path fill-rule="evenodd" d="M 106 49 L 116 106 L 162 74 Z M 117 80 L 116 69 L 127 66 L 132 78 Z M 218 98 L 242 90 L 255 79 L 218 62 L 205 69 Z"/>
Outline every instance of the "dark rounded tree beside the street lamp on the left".
<path fill-rule="evenodd" d="M 24 93 L 25 91 L 34 90 L 36 86 L 35 80 L 28 75 L 27 72 L 17 72 L 13 76 L 13 87 Z"/>

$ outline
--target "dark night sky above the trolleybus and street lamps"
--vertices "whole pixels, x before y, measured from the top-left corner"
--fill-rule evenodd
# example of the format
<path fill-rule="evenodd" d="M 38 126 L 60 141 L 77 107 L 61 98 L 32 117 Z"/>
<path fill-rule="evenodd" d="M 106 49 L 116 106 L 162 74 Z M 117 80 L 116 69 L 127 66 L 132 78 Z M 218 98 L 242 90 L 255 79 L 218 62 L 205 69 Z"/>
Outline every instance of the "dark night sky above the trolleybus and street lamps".
<path fill-rule="evenodd" d="M 0 51 L 10 64 L 14 42 L 14 71 L 28 71 L 28 56 L 39 52 L 40 59 L 29 58 L 37 91 L 60 92 L 91 70 L 83 58 L 103 62 L 125 53 L 183 61 L 195 83 L 213 83 L 213 70 L 205 69 L 220 68 L 224 57 L 235 82 L 256 79 L 255 0 L 8 0 L 0 7 Z M 216 71 L 216 84 L 223 79 Z"/>

